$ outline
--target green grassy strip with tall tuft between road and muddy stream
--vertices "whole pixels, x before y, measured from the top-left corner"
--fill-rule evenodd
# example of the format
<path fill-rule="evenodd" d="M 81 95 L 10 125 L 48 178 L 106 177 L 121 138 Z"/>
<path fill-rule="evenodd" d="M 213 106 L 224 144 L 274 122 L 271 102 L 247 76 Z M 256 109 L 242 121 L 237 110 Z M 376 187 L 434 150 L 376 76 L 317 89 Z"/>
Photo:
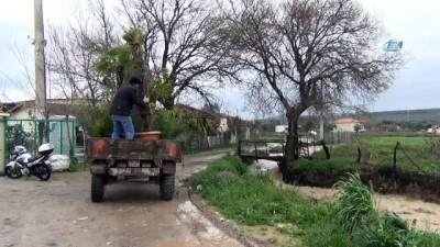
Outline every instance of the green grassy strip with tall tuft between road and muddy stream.
<path fill-rule="evenodd" d="M 277 246 L 433 247 L 440 243 L 437 234 L 402 228 L 398 216 L 380 215 L 373 192 L 354 175 L 338 183 L 336 202 L 314 203 L 229 155 L 196 175 L 191 187 L 224 217 L 257 227 L 261 237 Z M 270 228 L 290 242 L 276 240 L 266 234 Z"/>

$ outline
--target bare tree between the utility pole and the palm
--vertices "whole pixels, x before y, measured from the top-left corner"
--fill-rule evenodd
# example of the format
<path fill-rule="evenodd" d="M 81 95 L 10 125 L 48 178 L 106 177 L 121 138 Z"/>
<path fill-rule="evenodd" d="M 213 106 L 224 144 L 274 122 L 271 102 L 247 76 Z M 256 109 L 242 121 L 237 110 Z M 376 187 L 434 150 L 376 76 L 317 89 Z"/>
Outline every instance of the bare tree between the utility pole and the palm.
<path fill-rule="evenodd" d="M 95 106 L 109 100 L 114 89 L 109 85 L 112 80 L 102 79 L 96 70 L 99 52 L 119 41 L 105 1 L 91 1 L 88 8 L 86 12 L 77 11 L 67 26 L 50 26 L 47 69 L 53 91 L 62 98 L 82 99 Z"/>

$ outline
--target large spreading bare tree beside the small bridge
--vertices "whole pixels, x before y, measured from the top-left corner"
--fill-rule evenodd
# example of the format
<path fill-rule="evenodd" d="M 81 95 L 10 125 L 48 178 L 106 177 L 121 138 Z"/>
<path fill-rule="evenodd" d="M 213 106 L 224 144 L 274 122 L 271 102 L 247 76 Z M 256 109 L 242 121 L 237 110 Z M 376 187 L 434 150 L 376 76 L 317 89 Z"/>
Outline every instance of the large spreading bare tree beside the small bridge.
<path fill-rule="evenodd" d="M 287 161 L 298 157 L 301 113 L 372 100 L 403 63 L 402 54 L 380 50 L 380 22 L 352 0 L 229 0 L 219 7 L 255 106 L 282 106 L 286 114 Z"/>

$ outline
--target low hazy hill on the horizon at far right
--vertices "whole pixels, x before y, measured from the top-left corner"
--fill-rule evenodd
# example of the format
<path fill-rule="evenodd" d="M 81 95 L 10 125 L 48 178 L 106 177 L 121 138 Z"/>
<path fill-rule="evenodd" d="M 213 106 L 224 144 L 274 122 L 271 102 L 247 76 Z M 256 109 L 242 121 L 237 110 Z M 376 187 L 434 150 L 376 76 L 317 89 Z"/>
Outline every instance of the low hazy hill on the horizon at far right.
<path fill-rule="evenodd" d="M 378 121 L 440 121 L 440 109 L 419 109 L 373 112 L 372 115 Z"/>

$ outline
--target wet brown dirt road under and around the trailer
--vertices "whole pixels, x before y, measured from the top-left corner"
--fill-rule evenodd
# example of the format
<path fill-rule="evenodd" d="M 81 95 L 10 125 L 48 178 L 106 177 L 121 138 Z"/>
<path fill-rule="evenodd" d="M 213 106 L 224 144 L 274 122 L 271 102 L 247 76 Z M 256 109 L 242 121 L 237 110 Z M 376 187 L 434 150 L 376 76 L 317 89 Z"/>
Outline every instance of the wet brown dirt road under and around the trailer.
<path fill-rule="evenodd" d="M 106 188 L 103 203 L 92 203 L 88 172 L 55 172 L 47 182 L 0 177 L 0 246 L 242 246 L 190 203 L 182 184 L 223 154 L 185 157 L 170 202 L 160 199 L 157 186 L 116 183 Z"/>

